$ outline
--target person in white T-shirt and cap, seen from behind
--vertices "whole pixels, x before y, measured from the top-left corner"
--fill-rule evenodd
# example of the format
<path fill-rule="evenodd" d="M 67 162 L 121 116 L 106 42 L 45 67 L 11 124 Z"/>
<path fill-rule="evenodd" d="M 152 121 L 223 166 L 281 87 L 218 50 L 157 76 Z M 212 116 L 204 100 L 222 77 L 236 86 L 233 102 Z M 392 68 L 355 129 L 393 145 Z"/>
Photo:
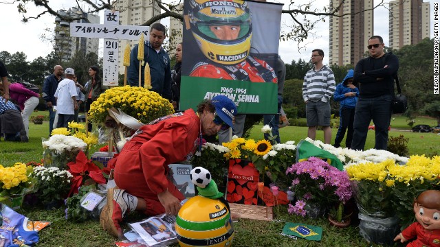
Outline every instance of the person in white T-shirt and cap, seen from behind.
<path fill-rule="evenodd" d="M 76 102 L 76 85 L 73 81 L 75 71 L 67 68 L 64 71 L 65 79 L 63 79 L 56 88 L 56 111 L 58 113 L 58 122 L 56 128 L 67 128 L 69 122 L 75 120 L 75 110 L 78 110 L 78 102 Z"/>

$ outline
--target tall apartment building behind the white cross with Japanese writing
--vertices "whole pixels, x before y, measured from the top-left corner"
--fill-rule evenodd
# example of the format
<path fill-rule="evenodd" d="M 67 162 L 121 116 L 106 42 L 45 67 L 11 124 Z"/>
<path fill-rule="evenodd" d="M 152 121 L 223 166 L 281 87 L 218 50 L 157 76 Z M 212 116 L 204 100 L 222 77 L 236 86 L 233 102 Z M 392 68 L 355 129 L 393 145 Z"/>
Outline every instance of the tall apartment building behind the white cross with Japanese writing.
<path fill-rule="evenodd" d="M 78 16 L 84 16 L 86 19 L 72 21 L 74 23 L 99 23 L 100 17 L 96 14 L 83 13 L 78 8 L 70 8 L 67 12 L 64 10 L 58 10 L 58 14 L 62 16 L 71 16 L 76 18 Z M 98 55 L 99 40 L 98 38 L 82 38 L 69 36 L 69 22 L 61 21 L 59 17 L 55 18 L 55 45 L 54 50 L 61 55 L 61 59 L 64 62 L 71 60 L 77 51 L 81 51 L 84 54 L 90 52 Z"/>

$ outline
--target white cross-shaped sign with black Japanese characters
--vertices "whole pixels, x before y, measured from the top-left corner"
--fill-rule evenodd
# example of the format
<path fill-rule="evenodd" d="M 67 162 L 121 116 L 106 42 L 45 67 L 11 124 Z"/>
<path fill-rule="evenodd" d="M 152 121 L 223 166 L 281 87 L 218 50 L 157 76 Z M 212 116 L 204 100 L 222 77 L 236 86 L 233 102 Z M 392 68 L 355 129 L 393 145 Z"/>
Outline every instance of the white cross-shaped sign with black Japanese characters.
<path fill-rule="evenodd" d="M 103 85 L 118 86 L 120 39 L 138 40 L 140 34 L 149 37 L 150 27 L 119 25 L 119 12 L 104 11 L 104 25 L 92 23 L 70 23 L 70 36 L 104 38 Z"/>

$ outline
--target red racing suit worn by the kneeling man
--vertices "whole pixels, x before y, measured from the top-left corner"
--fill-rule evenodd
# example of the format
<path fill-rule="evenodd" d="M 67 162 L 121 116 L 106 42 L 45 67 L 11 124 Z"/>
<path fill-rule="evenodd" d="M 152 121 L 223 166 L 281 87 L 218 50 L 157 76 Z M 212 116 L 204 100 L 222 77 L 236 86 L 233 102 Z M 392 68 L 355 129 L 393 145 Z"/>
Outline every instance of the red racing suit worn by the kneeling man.
<path fill-rule="evenodd" d="M 166 175 L 169 164 L 184 161 L 195 151 L 200 119 L 189 109 L 182 116 L 144 125 L 140 130 L 142 132 L 127 142 L 118 156 L 115 183 L 127 193 L 144 198 L 147 208 L 150 206 L 152 210 L 147 213 L 163 213 L 158 193 L 168 189 L 179 200 L 184 199 Z"/>

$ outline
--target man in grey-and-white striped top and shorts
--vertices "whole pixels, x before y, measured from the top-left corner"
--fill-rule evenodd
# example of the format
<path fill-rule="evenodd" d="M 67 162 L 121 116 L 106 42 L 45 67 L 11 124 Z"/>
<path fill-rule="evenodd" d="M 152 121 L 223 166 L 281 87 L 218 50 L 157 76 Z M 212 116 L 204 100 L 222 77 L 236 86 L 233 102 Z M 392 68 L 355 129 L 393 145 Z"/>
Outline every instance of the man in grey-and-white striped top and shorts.
<path fill-rule="evenodd" d="M 335 75 L 330 68 L 322 64 L 324 51 L 314 49 L 311 52 L 311 63 L 314 68 L 307 71 L 303 82 L 303 99 L 306 104 L 307 137 L 316 138 L 316 126 L 322 126 L 324 142 L 331 141 L 330 97 L 336 90 Z"/>

